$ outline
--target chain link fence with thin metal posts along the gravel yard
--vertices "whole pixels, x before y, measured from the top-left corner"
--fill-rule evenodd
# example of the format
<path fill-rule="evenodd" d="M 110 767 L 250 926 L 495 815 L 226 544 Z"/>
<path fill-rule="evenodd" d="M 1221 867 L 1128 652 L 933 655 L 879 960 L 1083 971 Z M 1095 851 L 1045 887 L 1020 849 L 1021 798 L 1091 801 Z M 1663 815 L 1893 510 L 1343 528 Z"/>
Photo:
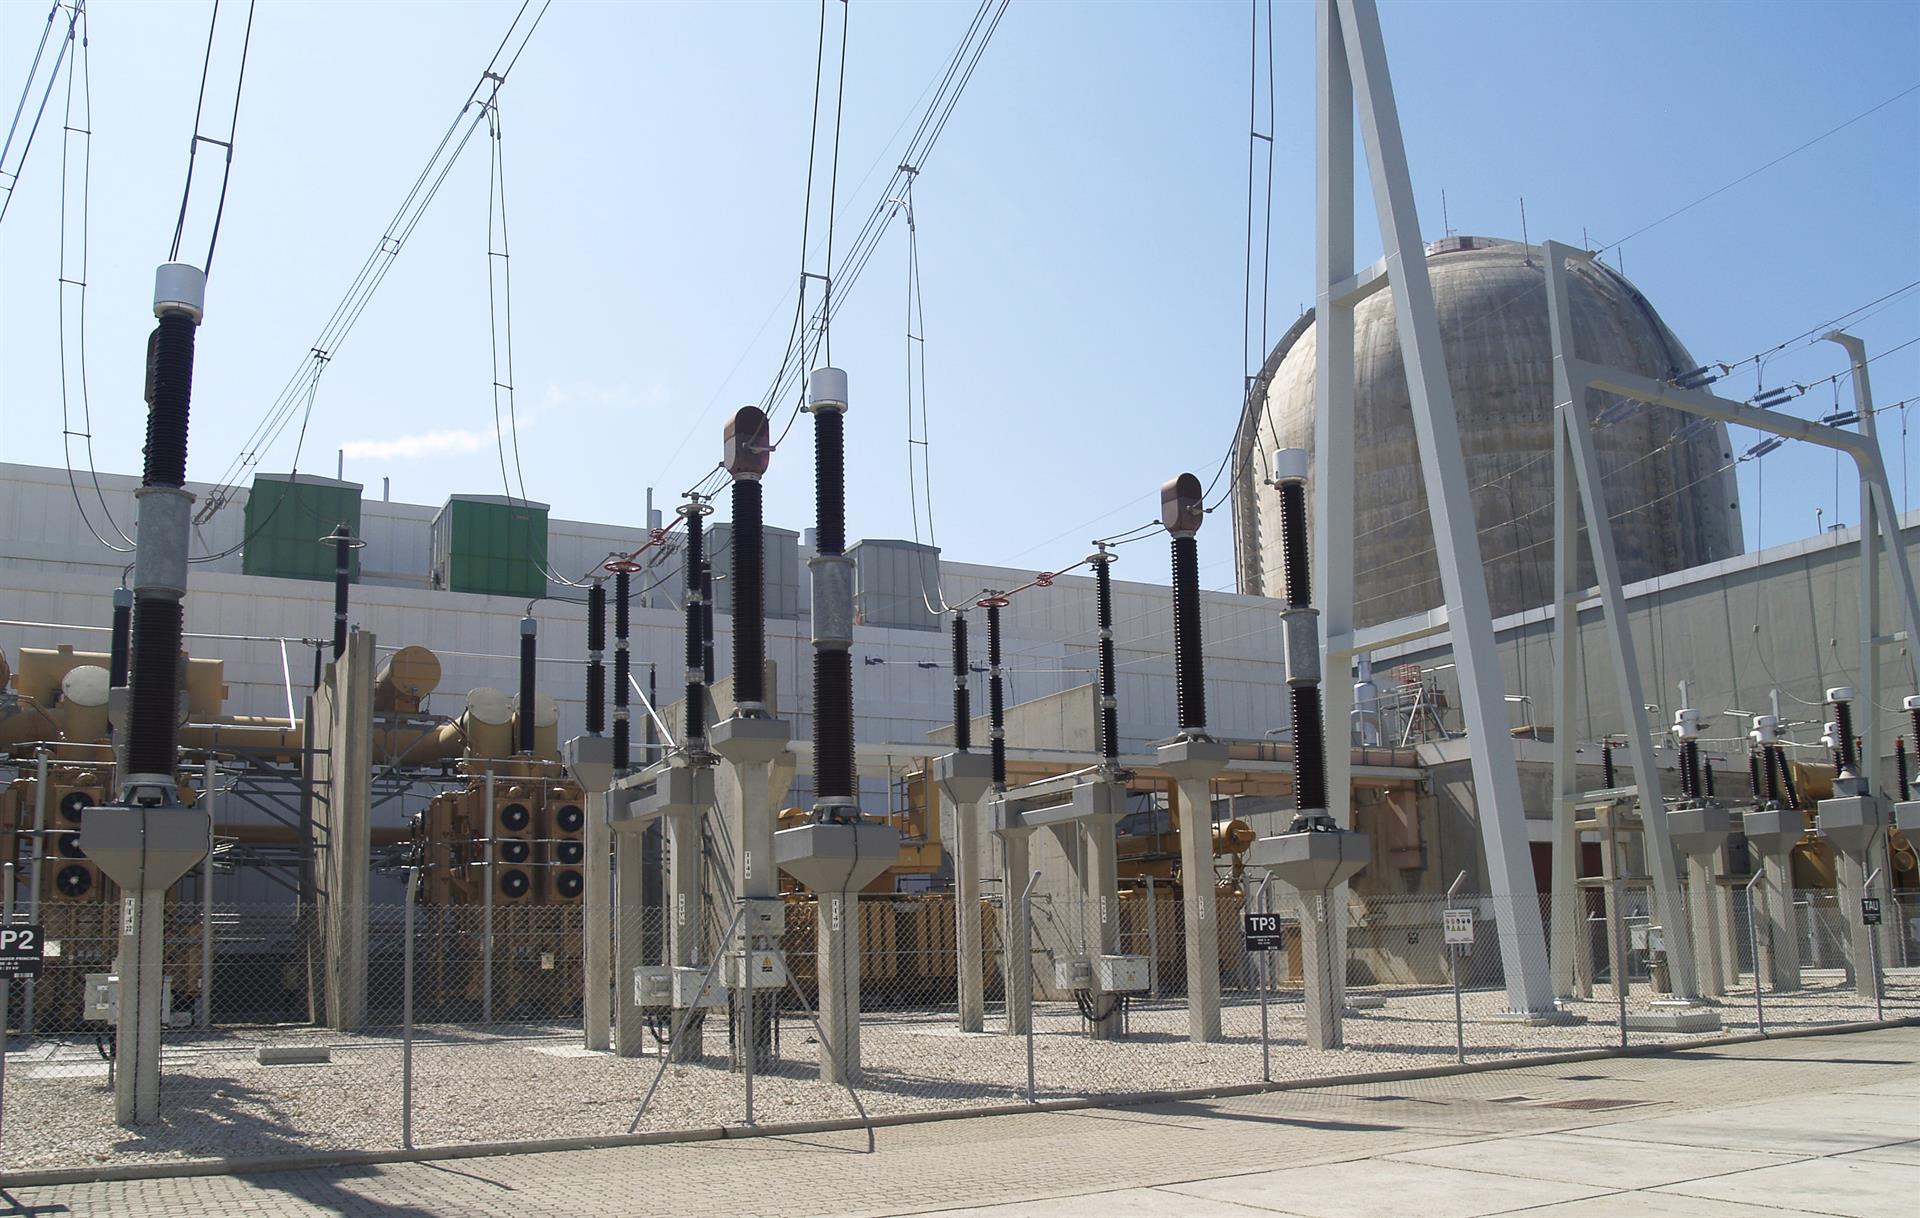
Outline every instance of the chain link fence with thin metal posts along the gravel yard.
<path fill-rule="evenodd" d="M 977 1030 L 960 1022 L 952 897 L 866 895 L 852 914 L 852 1089 L 822 1080 L 833 1045 L 810 899 L 785 903 L 783 976 L 756 991 L 753 1014 L 728 986 L 726 955 L 743 934 L 735 907 L 611 918 L 605 1047 L 584 1032 L 593 1020 L 582 1001 L 582 905 L 371 907 L 361 993 L 328 993 L 328 928 L 313 909 L 215 905 L 204 918 L 175 905 L 161 1120 L 138 1130 L 113 1124 L 111 1026 L 90 1001 L 117 949 L 115 909 L 48 905 L 44 970 L 31 987 L 8 987 L 0 1168 L 611 1137 L 749 1114 L 858 1120 L 1920 1016 L 1920 893 L 1893 895 L 1864 939 L 1878 955 L 1864 976 L 1853 968 L 1859 911 L 1832 891 L 1795 893 L 1791 986 L 1778 976 L 1786 945 L 1770 939 L 1778 918 L 1764 897 L 1749 907 L 1745 889 L 1716 888 L 1703 897 L 1718 903 L 1716 951 L 1695 953 L 1705 1001 L 1692 1005 L 1670 993 L 1667 943 L 1678 932 L 1653 924 L 1642 893 L 1617 899 L 1619 934 L 1603 889 L 1582 889 L 1565 926 L 1540 899 L 1548 934 L 1526 964 L 1549 968 L 1561 993 L 1559 1012 L 1542 1018 L 1509 1011 L 1500 901 L 1356 897 L 1325 928 L 1342 1043 L 1313 1049 L 1290 893 L 1221 886 L 1192 959 L 1181 893 L 1164 882 L 1127 889 L 1112 955 L 1144 957 L 1144 974 L 1121 995 L 1073 972 L 1075 961 L 1108 955 L 1098 911 L 1075 891 L 993 891 L 979 911 Z M 1021 907 L 1025 938 L 1014 934 Z M 1246 949 L 1248 911 L 1279 916 L 1281 947 Z M 1471 926 L 1471 943 L 1448 941 L 1448 913 L 1455 938 Z M 1219 1034 L 1196 1037 L 1188 991 L 1208 972 L 1219 982 Z"/>

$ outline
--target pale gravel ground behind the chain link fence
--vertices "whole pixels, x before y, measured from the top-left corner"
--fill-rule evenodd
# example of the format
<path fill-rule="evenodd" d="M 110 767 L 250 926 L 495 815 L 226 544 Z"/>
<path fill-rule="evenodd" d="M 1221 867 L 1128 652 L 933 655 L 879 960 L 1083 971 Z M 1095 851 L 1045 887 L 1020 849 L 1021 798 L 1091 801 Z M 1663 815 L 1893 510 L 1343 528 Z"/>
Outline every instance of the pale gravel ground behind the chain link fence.
<path fill-rule="evenodd" d="M 1766 1024 L 1836 1024 L 1874 1018 L 1839 974 L 1811 974 L 1807 989 L 1764 995 Z M 1365 993 L 1356 989 L 1354 993 Z M 1271 1078 L 1331 1078 L 1446 1064 L 1453 1057 L 1450 991 L 1379 991 L 1386 1003 L 1346 1020 L 1346 1047 L 1304 1047 L 1298 991 L 1283 991 L 1267 1012 Z M 1651 995 L 1636 991 L 1630 1011 Z M 1071 1005 L 1043 1003 L 1035 1022 L 1035 1074 L 1043 1099 L 1116 1091 L 1223 1087 L 1261 1080 L 1260 1005 L 1227 997 L 1223 1043 L 1194 1045 L 1179 999 L 1140 1003 L 1129 1035 L 1091 1041 Z M 1469 1060 L 1523 1057 L 1619 1043 L 1611 993 L 1572 1003 L 1580 1024 L 1500 1022 L 1501 991 L 1463 999 Z M 1887 978 L 1887 1018 L 1920 1014 L 1920 974 Z M 1720 1007 L 1722 1034 L 1753 1032 L 1753 991 Z M 868 1112 L 952 1110 L 1010 1103 L 1027 1078 L 1025 1037 L 968 1035 L 950 1012 L 870 1012 L 862 1024 Z M 1705 1034 L 1715 1035 L 1715 1034 Z M 1690 1041 L 1697 1035 L 1632 1032 L 1630 1043 Z M 261 1045 L 328 1045 L 317 1066 L 261 1066 Z M 741 1078 L 726 1068 L 724 1032 L 708 1030 L 708 1059 L 668 1066 L 641 1130 L 737 1124 Z M 780 1066 L 755 1080 L 760 1122 L 854 1116 L 845 1087 L 814 1078 L 818 1045 L 804 1018 L 781 1028 Z M 624 1133 L 653 1078 L 657 1057 L 616 1059 L 580 1047 L 578 1026 L 420 1028 L 413 1053 L 415 1145 L 593 1137 Z M 17 1041 L 6 1055 L 6 1170 L 298 1155 L 401 1145 L 401 1049 L 397 1035 L 346 1035 L 311 1028 L 246 1028 L 169 1034 L 163 1055 L 163 1116 L 138 1132 L 113 1124 L 106 1064 L 92 1043 Z"/>

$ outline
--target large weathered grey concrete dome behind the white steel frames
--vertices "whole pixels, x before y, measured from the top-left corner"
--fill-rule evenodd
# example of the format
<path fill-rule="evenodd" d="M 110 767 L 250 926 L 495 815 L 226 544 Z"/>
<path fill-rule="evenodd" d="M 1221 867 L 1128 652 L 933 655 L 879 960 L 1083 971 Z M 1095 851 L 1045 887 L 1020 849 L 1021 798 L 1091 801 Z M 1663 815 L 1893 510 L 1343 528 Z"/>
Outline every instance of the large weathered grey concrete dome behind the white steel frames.
<path fill-rule="evenodd" d="M 1546 605 L 1553 599 L 1553 348 L 1544 257 L 1536 246 L 1453 236 L 1428 248 L 1427 267 L 1494 615 Z M 1617 271 L 1601 263 L 1571 269 L 1571 296 L 1582 357 L 1659 378 L 1695 367 L 1653 305 Z M 1354 321 L 1354 599 L 1356 621 L 1365 626 L 1423 613 L 1446 597 L 1392 292 L 1363 300 Z M 1240 419 L 1235 561 L 1242 592 L 1281 592 L 1279 494 L 1265 476 L 1275 448 L 1313 450 L 1313 365 L 1309 309 L 1273 348 Z M 1682 434 L 1690 417 L 1624 405 L 1601 425 L 1619 402 L 1594 392 L 1586 405 L 1624 578 L 1741 553 L 1726 428 L 1715 423 Z M 1580 549 L 1582 578 L 1592 582 L 1584 542 Z"/>

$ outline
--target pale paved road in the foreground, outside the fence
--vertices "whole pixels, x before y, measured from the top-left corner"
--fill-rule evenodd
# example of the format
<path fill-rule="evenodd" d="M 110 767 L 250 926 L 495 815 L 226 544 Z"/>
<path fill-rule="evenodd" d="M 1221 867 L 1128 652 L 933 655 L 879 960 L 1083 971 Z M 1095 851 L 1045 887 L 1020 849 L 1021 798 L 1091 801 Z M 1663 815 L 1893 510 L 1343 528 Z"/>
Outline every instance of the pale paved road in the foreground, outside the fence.
<path fill-rule="evenodd" d="M 1914 1218 L 1920 1030 L 1233 1101 L 17 1189 L 0 1214 Z"/>

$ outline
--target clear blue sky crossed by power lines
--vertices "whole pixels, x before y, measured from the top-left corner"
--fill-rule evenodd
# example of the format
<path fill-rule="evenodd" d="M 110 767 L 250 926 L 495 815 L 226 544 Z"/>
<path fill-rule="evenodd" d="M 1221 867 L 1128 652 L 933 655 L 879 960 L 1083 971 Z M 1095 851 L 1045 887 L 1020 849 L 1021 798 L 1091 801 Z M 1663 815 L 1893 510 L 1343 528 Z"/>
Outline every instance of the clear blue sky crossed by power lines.
<path fill-rule="evenodd" d="M 516 8 L 257 6 L 198 338 L 192 478 L 221 478 L 303 365 Z M 1265 12 L 1261 2 L 1261 44 Z M 46 13 L 0 4 L 10 110 Z M 180 209 L 209 4 L 92 0 L 86 13 L 90 88 L 75 90 L 75 113 L 90 98 L 92 131 L 86 407 L 98 467 L 138 473 L 152 271 Z M 835 257 L 883 202 L 972 13 L 972 2 L 831 6 L 810 269 L 826 267 L 829 194 Z M 1246 361 L 1258 365 L 1313 298 L 1313 10 L 1288 2 L 1271 13 L 1267 327 L 1261 340 L 1254 300 L 1242 342 L 1250 6 L 1014 0 L 914 186 L 922 450 L 908 444 L 918 398 L 902 217 L 839 288 L 831 344 L 851 378 L 851 536 L 918 530 L 956 561 L 1060 569 L 1091 538 L 1154 519 L 1162 480 L 1213 473 Z M 1701 361 L 1745 361 L 1920 280 L 1920 90 L 1907 92 L 1920 85 L 1920 6 L 1384 0 L 1380 13 L 1428 240 L 1448 229 L 1519 236 L 1523 198 L 1536 242 L 1634 234 L 1609 261 Z M 217 134 L 244 15 L 238 0 L 221 12 L 205 108 Z M 499 94 L 499 154 L 518 471 L 526 496 L 557 517 L 643 524 L 647 488 L 678 501 L 720 459 L 726 415 L 766 392 L 801 275 L 818 31 L 810 2 L 553 0 L 515 63 Z M 1265 63 L 1258 75 L 1265 125 Z M 67 290 L 63 319 L 58 282 L 63 90 L 0 221 L 4 451 L 56 467 L 61 430 L 86 430 L 79 296 Z M 65 165 L 69 279 L 83 277 L 79 146 Z M 217 156 L 200 156 L 188 254 L 205 246 Z M 6 169 L 15 163 L 17 144 Z M 1261 196 L 1263 175 L 1261 161 Z M 417 503 L 520 494 L 518 476 L 503 482 L 493 430 L 490 190 L 482 131 L 332 350 L 303 473 L 334 475 L 344 450 L 346 476 L 369 496 L 382 478 Z M 1256 207 L 1265 229 L 1265 200 Z M 1365 192 L 1359 207 L 1367 261 L 1379 236 Z M 1870 369 L 1880 403 L 1920 396 L 1920 344 L 1893 350 L 1920 338 L 1920 288 L 1851 329 L 1870 353 L 1887 352 Z M 1716 388 L 1741 398 L 1843 369 L 1837 346 L 1799 342 Z M 1836 392 L 1851 405 L 1841 380 L 1784 409 L 1830 413 Z M 1907 415 L 1882 415 L 1903 507 L 1920 465 Z M 261 469 L 294 465 L 296 430 Z M 812 523 L 806 430 L 774 455 L 770 523 Z M 1736 451 L 1755 440 L 1736 432 Z M 931 480 L 918 499 L 912 451 Z M 84 465 L 83 444 L 73 459 Z M 1836 498 L 1822 451 L 1789 444 L 1740 475 L 1749 548 L 1857 519 L 1855 492 L 1841 484 Z M 1116 576 L 1164 580 L 1164 549 L 1127 548 Z M 1200 549 L 1206 586 L 1231 588 L 1225 513 Z"/>

